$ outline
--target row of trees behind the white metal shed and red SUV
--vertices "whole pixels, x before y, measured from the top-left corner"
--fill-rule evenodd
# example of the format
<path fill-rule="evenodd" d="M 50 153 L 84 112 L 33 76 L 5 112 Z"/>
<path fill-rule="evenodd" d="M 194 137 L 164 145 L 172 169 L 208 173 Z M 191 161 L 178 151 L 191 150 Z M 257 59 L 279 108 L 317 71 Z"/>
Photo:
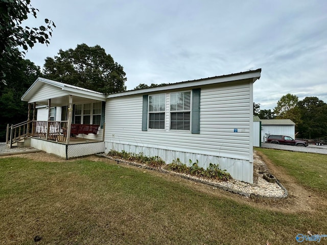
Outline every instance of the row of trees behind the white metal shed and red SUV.
<path fill-rule="evenodd" d="M 288 93 L 273 110 L 260 110 L 260 104 L 253 103 L 253 114 L 260 119 L 291 119 L 296 138 L 327 139 L 327 104 L 316 96 L 299 101 L 297 95 Z"/>

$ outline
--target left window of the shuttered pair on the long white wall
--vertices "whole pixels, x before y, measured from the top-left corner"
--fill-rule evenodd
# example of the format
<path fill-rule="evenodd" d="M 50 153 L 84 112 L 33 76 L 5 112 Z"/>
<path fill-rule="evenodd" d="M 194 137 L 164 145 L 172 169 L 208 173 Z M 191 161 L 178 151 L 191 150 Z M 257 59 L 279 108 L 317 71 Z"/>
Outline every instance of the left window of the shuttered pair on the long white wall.
<path fill-rule="evenodd" d="M 166 94 L 149 96 L 149 129 L 165 129 Z"/>

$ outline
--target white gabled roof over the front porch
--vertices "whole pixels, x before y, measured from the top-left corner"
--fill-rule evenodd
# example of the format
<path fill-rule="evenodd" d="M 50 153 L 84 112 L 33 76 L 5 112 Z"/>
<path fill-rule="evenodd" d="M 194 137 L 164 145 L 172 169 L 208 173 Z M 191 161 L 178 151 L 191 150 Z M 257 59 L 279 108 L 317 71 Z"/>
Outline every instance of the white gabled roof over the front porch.
<path fill-rule="evenodd" d="M 74 104 L 88 101 L 106 101 L 106 96 L 103 93 L 45 78 L 36 79 L 21 96 L 21 100 L 48 105 L 48 99 L 51 99 L 52 105 L 60 106 L 67 104 L 67 95 L 73 95 Z"/>

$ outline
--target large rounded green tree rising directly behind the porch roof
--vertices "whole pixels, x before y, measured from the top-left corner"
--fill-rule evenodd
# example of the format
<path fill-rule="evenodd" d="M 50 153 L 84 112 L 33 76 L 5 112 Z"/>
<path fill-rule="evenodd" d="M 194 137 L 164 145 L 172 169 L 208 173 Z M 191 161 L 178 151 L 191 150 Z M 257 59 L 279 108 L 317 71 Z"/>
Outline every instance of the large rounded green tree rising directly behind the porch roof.
<path fill-rule="evenodd" d="M 59 50 L 58 56 L 45 59 L 44 76 L 102 93 L 126 90 L 123 66 L 99 45 L 89 47 L 83 43 L 75 50 Z"/>

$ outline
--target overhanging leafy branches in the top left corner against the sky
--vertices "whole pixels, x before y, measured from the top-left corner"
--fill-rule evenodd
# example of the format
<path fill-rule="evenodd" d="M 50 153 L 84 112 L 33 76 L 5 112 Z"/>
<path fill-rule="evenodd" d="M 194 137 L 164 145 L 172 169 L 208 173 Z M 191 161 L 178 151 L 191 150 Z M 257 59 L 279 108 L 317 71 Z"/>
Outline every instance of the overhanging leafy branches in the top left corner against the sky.
<path fill-rule="evenodd" d="M 33 8 L 30 0 L 0 0 L 0 80 L 6 84 L 6 72 L 8 65 L 13 65 L 14 55 L 17 55 L 16 47 L 21 46 L 25 51 L 33 47 L 34 43 L 48 45 L 52 35 L 54 22 L 45 19 L 45 26 L 39 28 L 21 27 L 22 21 L 30 14 L 36 18 L 37 9 Z M 25 55 L 25 52 L 22 52 Z M 18 53 L 21 56 L 20 53 Z"/>

